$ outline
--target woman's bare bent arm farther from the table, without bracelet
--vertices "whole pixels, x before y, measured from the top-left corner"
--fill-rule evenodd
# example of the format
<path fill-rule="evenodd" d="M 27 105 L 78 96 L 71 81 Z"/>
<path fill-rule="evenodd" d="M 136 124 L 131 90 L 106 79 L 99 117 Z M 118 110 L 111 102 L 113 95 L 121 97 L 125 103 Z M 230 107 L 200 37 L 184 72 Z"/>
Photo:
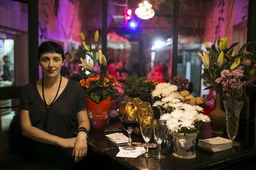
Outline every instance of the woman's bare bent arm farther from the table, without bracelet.
<path fill-rule="evenodd" d="M 22 135 L 35 141 L 48 143 L 51 145 L 59 145 L 61 147 L 74 147 L 76 138 L 60 138 L 56 135 L 52 135 L 41 129 L 35 128 L 31 125 L 30 116 L 28 111 L 20 111 L 20 125 L 22 129 Z"/>

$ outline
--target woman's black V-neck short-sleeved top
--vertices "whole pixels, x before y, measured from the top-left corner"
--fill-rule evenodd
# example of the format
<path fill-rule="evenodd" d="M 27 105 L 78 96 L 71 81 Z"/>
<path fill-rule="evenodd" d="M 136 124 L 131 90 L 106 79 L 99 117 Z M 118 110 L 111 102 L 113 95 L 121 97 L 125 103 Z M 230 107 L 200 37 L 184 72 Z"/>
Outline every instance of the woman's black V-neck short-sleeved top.
<path fill-rule="evenodd" d="M 85 91 L 73 80 L 68 80 L 63 92 L 51 104 L 47 119 L 46 106 L 36 83 L 27 84 L 20 92 L 20 109 L 29 111 L 32 126 L 61 138 L 74 137 L 77 130 L 77 113 L 85 107 Z"/>

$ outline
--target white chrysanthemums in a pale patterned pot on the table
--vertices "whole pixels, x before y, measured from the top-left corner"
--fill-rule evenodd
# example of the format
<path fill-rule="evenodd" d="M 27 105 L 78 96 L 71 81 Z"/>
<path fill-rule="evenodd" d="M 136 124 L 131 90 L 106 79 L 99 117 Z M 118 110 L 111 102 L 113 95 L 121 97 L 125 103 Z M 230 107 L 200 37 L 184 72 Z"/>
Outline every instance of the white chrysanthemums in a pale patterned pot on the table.
<path fill-rule="evenodd" d="M 198 105 L 183 103 L 182 97 L 174 93 L 177 86 L 170 83 L 159 83 L 152 92 L 156 99 L 154 106 L 164 112 L 160 120 L 166 121 L 168 130 L 173 136 L 176 158 L 191 159 L 196 157 L 196 137 L 203 122 L 210 122 L 210 118 L 201 112 Z M 158 100 L 157 100 L 158 99 Z"/>

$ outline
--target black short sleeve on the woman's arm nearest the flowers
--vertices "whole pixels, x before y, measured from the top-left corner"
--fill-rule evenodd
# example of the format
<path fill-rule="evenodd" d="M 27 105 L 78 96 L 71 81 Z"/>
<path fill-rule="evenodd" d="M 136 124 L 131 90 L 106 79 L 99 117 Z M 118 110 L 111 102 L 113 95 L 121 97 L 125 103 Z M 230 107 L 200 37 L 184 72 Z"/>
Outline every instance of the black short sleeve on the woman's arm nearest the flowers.
<path fill-rule="evenodd" d="M 77 88 L 76 88 L 76 113 L 80 112 L 82 109 L 86 108 L 86 95 L 85 91 L 80 86 L 80 84 L 77 83 Z"/>

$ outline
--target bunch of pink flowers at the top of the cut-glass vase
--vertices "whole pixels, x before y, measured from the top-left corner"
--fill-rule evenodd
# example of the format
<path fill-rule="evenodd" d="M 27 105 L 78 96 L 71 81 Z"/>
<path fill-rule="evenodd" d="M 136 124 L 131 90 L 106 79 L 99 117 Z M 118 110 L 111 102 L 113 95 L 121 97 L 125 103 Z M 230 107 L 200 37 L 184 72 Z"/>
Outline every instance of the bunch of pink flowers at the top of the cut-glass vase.
<path fill-rule="evenodd" d="M 221 84 L 226 100 L 241 100 L 243 87 L 246 84 L 246 81 L 242 81 L 243 73 L 241 69 L 222 70 L 221 76 L 215 80 L 217 84 Z"/>

